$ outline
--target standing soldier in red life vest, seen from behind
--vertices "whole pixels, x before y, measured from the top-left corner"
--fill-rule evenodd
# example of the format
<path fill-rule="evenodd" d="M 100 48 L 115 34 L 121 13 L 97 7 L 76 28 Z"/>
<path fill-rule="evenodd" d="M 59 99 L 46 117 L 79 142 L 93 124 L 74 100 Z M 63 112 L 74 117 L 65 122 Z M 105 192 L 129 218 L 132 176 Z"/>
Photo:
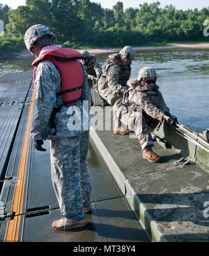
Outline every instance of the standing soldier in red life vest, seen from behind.
<path fill-rule="evenodd" d="M 36 57 L 32 63 L 36 104 L 31 137 L 39 151 L 46 150 L 42 148 L 43 140 L 51 141 L 52 183 L 63 215 L 52 227 L 67 230 L 84 227 L 85 212 L 91 211 L 89 129 L 84 129 L 82 123 L 82 116 L 88 118 L 91 97 L 86 71 L 77 60 L 82 54 L 54 45 L 55 40 L 54 33 L 42 24 L 33 25 L 24 35 L 26 48 Z"/>

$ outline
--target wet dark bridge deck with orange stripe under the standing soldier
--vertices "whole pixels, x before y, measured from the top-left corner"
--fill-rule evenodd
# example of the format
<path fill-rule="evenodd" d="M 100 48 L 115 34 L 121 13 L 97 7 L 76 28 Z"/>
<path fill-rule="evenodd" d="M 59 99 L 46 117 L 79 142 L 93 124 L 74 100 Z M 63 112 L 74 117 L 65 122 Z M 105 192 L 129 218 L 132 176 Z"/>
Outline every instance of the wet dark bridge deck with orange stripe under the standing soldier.
<path fill-rule="evenodd" d="M 127 199 L 91 146 L 88 163 L 93 210 L 86 214 L 89 224 L 73 232 L 53 231 L 52 222 L 61 218 L 61 213 L 52 188 L 49 141 L 43 153 L 33 149 L 30 138 L 34 107 L 31 86 L 31 73 L 0 77 L 4 103 L 0 106 L 0 241 L 148 241 Z"/>

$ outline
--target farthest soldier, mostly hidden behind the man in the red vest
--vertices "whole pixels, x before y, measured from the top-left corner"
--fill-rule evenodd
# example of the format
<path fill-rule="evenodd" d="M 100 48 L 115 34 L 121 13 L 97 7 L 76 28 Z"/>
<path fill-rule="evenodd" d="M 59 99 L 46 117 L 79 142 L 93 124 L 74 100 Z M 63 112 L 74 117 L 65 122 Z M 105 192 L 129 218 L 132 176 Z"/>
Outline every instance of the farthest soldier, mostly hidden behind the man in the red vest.
<path fill-rule="evenodd" d="M 84 68 L 86 69 L 86 73 L 88 74 L 88 88 L 89 90 L 91 90 L 91 88 L 93 87 L 93 82 L 96 83 L 102 75 L 102 67 L 100 66 L 100 63 L 95 55 L 91 55 L 86 50 L 82 51 L 82 55 L 84 57 L 82 63 L 84 64 Z M 102 107 L 107 106 L 107 101 L 104 100 L 104 98 L 102 98 L 101 96 L 100 98 L 102 100 Z M 94 103 L 91 96 L 91 107 L 93 105 Z"/>

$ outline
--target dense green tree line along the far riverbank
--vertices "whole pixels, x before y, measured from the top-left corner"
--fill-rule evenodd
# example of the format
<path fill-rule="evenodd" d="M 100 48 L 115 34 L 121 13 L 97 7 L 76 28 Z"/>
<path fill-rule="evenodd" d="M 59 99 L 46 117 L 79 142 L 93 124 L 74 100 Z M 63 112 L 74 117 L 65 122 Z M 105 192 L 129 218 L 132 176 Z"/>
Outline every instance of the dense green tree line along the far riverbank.
<path fill-rule="evenodd" d="M 120 1 L 111 9 L 90 0 L 26 0 L 26 6 L 15 10 L 0 4 L 0 20 L 5 24 L 0 52 L 2 42 L 23 43 L 24 32 L 33 24 L 45 24 L 66 47 L 121 47 L 206 41 L 203 22 L 207 19 L 209 7 L 176 10 L 172 4 L 161 8 L 160 1 L 125 10 Z"/>

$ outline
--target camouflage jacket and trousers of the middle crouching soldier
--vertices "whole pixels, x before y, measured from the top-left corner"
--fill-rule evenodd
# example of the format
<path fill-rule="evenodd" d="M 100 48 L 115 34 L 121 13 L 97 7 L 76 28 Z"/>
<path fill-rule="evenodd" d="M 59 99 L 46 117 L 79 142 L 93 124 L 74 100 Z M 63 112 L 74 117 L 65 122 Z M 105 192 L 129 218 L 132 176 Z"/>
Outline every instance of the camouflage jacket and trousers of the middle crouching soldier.
<path fill-rule="evenodd" d="M 131 75 L 130 64 L 121 62 L 121 54 L 111 54 L 104 62 L 102 76 L 98 81 L 99 93 L 110 105 L 114 105 L 114 130 L 120 126 L 123 90 L 127 89 L 127 80 Z"/>

